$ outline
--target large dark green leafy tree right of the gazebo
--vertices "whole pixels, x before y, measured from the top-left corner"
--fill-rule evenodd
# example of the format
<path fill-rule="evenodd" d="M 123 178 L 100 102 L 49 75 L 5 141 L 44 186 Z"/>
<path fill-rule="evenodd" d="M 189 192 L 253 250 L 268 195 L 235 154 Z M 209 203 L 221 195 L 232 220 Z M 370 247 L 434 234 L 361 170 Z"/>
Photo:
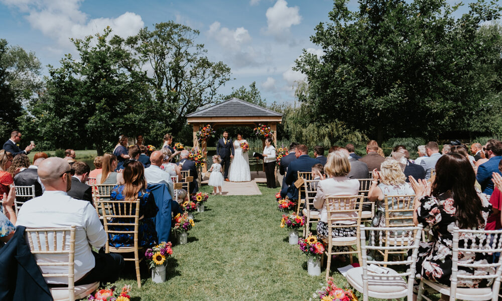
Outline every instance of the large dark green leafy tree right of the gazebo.
<path fill-rule="evenodd" d="M 335 0 L 331 22 L 311 37 L 324 55 L 304 50 L 296 61 L 308 80 L 299 99 L 315 120 L 344 121 L 379 142 L 384 133 L 465 130 L 465 116 L 499 91 L 498 83 L 478 84 L 485 78 L 474 72 L 499 66 L 500 51 L 491 53 L 498 39 L 479 34 L 500 16 L 495 3 L 471 3 L 459 19 L 459 5 L 445 0 L 361 0 L 356 12 L 347 3 Z"/>

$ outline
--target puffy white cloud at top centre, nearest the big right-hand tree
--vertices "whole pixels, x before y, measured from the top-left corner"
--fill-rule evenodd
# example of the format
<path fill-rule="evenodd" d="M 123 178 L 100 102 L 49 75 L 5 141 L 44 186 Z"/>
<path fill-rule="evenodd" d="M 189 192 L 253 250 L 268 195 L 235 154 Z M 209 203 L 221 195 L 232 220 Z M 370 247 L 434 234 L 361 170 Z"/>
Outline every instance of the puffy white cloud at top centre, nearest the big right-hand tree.
<path fill-rule="evenodd" d="M 267 10 L 267 33 L 282 38 L 289 36 L 290 28 L 302 21 L 298 7 L 288 7 L 285 0 L 277 0 L 276 4 Z"/>

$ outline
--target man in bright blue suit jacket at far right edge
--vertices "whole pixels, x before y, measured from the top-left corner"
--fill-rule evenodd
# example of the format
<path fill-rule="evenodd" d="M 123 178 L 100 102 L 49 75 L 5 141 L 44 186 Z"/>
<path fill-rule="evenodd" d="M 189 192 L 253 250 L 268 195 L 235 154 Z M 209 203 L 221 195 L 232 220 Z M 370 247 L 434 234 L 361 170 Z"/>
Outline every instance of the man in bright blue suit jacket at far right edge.
<path fill-rule="evenodd" d="M 502 160 L 502 142 L 494 139 L 488 140 L 484 154 L 488 161 L 477 168 L 476 180 L 481 185 L 481 191 L 491 195 L 493 192 L 492 173 L 500 173 L 498 163 Z"/>

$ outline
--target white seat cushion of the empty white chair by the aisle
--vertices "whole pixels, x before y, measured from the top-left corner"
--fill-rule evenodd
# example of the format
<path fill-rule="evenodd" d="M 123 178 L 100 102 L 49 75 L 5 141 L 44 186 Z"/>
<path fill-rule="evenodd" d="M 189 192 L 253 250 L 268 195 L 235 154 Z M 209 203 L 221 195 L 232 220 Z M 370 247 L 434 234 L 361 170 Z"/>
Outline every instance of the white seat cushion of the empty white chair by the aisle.
<path fill-rule="evenodd" d="M 401 276 L 396 275 L 397 272 L 392 268 L 386 268 L 389 270 L 388 274 L 382 274 L 382 276 L 368 275 L 368 294 L 369 296 L 379 297 L 382 295 L 387 295 L 389 298 L 400 298 L 404 297 L 408 291 L 408 283 Z M 362 292 L 362 267 L 354 267 L 347 271 L 345 275 L 347 281 L 355 289 Z"/>

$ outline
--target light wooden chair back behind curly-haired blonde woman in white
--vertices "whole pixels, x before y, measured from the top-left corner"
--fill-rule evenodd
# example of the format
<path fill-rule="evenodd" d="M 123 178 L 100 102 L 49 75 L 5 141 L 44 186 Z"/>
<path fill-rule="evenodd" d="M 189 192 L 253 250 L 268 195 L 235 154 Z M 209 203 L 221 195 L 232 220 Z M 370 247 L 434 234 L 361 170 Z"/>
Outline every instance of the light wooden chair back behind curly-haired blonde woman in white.
<path fill-rule="evenodd" d="M 414 226 L 413 200 L 415 195 L 385 196 L 385 226 Z"/>

